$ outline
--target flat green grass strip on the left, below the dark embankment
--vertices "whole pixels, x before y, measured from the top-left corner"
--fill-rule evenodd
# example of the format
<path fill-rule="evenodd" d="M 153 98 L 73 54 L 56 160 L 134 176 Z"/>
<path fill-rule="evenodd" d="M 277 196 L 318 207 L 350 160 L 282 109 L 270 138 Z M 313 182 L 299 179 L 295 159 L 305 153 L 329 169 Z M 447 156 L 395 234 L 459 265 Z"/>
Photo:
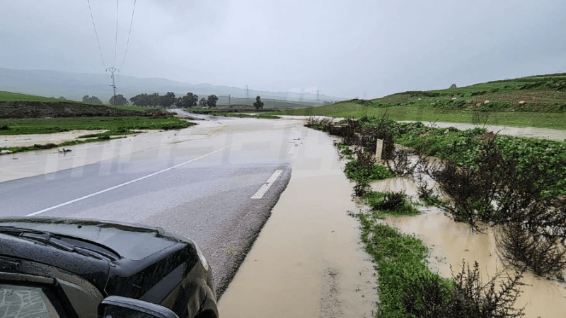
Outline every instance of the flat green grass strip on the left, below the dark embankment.
<path fill-rule="evenodd" d="M 195 124 L 175 117 L 152 119 L 149 117 L 71 117 L 0 119 L 0 135 L 52 134 L 77 129 L 108 129 L 125 131 L 137 129 L 181 129 Z"/>

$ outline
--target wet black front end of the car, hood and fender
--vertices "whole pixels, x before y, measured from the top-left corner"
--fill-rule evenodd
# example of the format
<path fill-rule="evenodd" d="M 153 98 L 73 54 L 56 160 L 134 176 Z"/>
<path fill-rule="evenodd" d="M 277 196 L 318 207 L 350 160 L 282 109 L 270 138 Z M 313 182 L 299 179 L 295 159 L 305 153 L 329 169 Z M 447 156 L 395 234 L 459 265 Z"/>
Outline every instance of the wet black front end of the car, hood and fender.
<path fill-rule="evenodd" d="M 62 218 L 0 218 L 0 230 L 0 272 L 55 278 L 74 305 L 89 295 L 79 317 L 93 317 L 88 312 L 96 314 L 93 306 L 109 295 L 163 305 L 179 317 L 194 317 L 204 307 L 218 314 L 212 270 L 186 237 Z"/>

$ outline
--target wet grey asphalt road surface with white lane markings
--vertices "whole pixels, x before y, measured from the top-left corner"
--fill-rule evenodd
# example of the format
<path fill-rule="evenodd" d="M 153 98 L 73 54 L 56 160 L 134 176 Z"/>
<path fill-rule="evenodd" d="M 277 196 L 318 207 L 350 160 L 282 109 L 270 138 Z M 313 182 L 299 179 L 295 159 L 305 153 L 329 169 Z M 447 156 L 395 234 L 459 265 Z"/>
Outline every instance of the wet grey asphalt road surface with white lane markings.
<path fill-rule="evenodd" d="M 265 119 L 220 123 L 200 139 L 163 141 L 127 157 L 2 182 L 0 216 L 160 226 L 200 245 L 221 294 L 287 186 L 287 157 L 299 146 L 293 140 L 301 125 Z M 100 147 L 88 151 L 95 155 Z"/>

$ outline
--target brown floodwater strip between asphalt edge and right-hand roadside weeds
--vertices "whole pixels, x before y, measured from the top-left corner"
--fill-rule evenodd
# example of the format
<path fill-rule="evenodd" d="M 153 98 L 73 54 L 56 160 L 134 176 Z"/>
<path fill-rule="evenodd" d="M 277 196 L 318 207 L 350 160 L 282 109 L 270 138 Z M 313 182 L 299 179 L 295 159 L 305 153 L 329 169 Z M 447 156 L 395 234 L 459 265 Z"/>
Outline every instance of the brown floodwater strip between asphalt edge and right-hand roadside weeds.
<path fill-rule="evenodd" d="M 298 129 L 287 189 L 222 295 L 222 317 L 374 316 L 373 264 L 347 215 L 356 210 L 352 184 L 333 139 Z"/>

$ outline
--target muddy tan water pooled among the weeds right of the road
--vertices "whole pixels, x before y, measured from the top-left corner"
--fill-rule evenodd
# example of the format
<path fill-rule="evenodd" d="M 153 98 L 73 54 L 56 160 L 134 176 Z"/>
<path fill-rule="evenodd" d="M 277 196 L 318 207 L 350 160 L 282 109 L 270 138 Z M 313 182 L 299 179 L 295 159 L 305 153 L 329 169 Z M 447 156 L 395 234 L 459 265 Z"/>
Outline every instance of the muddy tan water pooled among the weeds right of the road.
<path fill-rule="evenodd" d="M 374 191 L 405 191 L 410 195 L 416 194 L 415 185 L 405 178 L 386 179 L 371 184 Z M 504 264 L 497 256 L 495 237 L 492 228 L 485 234 L 473 233 L 465 223 L 456 223 L 439 208 L 422 208 L 419 216 L 388 216 L 385 223 L 393 225 L 405 234 L 414 234 L 429 247 L 429 267 L 438 271 L 441 276 L 451 277 L 461 270 L 462 260 L 465 259 L 473 266 L 478 261 L 483 282 L 495 271 L 504 269 Z M 510 272 L 512 274 L 512 272 Z M 516 301 L 516 307 L 525 307 L 525 317 L 565 317 L 566 316 L 566 283 L 553 279 L 534 276 L 525 273 L 522 283 L 521 296 Z"/>

